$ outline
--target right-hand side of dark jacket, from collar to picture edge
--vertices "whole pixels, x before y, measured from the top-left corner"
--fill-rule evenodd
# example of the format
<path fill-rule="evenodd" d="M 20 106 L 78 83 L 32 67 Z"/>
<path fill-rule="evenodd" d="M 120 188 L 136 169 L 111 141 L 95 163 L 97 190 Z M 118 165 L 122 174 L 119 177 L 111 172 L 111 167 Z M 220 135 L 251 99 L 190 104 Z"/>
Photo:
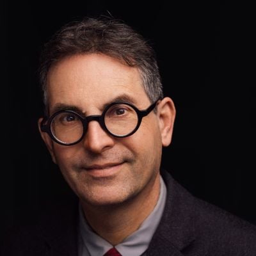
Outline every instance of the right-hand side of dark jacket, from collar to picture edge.
<path fill-rule="evenodd" d="M 170 173 L 161 174 L 168 192 L 157 241 L 189 256 L 256 255 L 252 223 L 193 196 Z"/>

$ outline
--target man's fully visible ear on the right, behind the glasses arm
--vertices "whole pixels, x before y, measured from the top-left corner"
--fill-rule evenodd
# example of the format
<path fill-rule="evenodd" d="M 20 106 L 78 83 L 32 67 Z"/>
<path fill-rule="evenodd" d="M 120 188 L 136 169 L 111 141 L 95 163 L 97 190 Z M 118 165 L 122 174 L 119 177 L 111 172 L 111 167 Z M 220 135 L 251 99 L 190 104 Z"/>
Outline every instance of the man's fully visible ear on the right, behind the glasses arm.
<path fill-rule="evenodd" d="M 167 147 L 172 141 L 175 114 L 176 110 L 171 98 L 165 97 L 157 105 L 157 117 L 159 119 L 163 147 Z"/>

